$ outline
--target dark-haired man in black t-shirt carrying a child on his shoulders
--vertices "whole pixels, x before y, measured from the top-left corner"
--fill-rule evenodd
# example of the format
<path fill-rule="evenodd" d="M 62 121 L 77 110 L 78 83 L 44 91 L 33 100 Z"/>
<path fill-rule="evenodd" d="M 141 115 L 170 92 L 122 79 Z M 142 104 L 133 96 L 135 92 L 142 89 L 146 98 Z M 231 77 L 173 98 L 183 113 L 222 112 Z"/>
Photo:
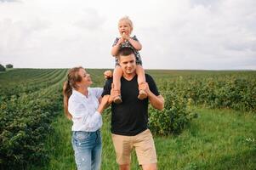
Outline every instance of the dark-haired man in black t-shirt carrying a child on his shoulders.
<path fill-rule="evenodd" d="M 147 99 L 138 99 L 139 89 L 136 75 L 135 55 L 131 48 L 121 48 L 117 54 L 122 68 L 122 103 L 111 105 L 111 136 L 116 150 L 119 169 L 130 169 L 130 156 L 135 149 L 139 165 L 144 170 L 156 170 L 156 149 L 151 131 L 147 127 L 148 102 L 162 110 L 164 99 L 158 93 L 153 78 L 145 74 L 146 82 L 139 89 L 145 90 Z M 118 93 L 111 90 L 112 79 L 105 82 L 102 94 L 111 94 L 114 99 Z"/>

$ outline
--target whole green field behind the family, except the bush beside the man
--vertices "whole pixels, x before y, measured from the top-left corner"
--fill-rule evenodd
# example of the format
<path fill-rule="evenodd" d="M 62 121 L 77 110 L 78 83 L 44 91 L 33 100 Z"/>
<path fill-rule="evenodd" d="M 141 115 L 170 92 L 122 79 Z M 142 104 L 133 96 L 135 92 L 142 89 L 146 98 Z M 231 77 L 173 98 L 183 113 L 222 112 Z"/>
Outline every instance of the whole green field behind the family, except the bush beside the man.
<path fill-rule="evenodd" d="M 61 107 L 65 72 L 20 69 L 0 74 L 2 168 L 6 157 L 14 159 L 17 165 L 19 159 L 22 161 L 19 157 L 22 150 L 15 148 L 18 146 L 29 154 L 38 151 L 35 156 L 43 158 L 38 162 L 31 157 L 23 157 L 30 161 L 27 165 L 23 160 L 21 165 L 24 169 L 76 169 L 71 148 L 71 122 L 65 118 Z M 88 72 L 94 81 L 93 86 L 102 87 L 103 70 Z M 166 104 L 172 103 L 168 98 L 168 94 L 172 94 L 182 102 L 190 101 L 187 109 L 197 115 L 186 124 L 182 133 L 154 135 L 158 169 L 256 169 L 256 71 L 147 72 L 155 78 L 161 94 L 167 97 Z M 31 110 L 32 105 L 36 106 Z M 40 115 L 39 118 L 33 115 L 35 113 Z M 28 116 L 33 121 L 28 121 Z M 109 110 L 105 111 L 101 129 L 102 169 L 117 169 L 111 144 L 110 118 Z M 44 134 L 36 138 L 31 136 L 37 135 L 33 130 Z M 43 151 L 29 143 L 30 138 L 35 139 Z M 31 144 L 34 150 L 22 144 Z M 139 169 L 135 155 L 132 162 L 131 169 Z M 22 169 L 12 169 L 15 168 Z"/>

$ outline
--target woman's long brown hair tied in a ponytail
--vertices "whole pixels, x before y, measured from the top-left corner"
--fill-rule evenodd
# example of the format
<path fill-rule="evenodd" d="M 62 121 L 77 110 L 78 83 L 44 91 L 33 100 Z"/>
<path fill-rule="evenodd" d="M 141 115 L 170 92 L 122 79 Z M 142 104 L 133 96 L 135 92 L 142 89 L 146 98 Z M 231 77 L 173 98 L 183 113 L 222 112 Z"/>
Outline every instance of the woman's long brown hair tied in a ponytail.
<path fill-rule="evenodd" d="M 81 82 L 82 81 L 82 77 L 78 74 L 78 72 L 80 71 L 80 69 L 83 69 L 82 66 L 80 67 L 74 67 L 71 68 L 68 71 L 67 74 L 67 80 L 64 82 L 63 85 L 63 103 L 64 103 L 64 111 L 65 111 L 65 116 L 68 119 L 71 119 L 71 113 L 68 111 L 68 99 L 71 97 L 72 94 L 72 89 L 77 89 L 77 82 Z"/>

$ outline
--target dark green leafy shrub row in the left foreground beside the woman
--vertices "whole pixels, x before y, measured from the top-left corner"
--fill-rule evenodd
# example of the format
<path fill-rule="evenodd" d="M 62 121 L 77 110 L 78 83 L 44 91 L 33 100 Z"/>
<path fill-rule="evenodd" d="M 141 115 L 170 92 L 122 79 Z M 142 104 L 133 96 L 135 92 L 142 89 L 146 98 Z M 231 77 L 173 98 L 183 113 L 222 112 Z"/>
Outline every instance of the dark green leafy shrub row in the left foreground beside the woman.
<path fill-rule="evenodd" d="M 47 86 L 38 83 L 41 88 L 35 87 L 31 93 L 12 95 L 1 101 L 1 169 L 26 169 L 28 164 L 48 161 L 49 150 L 44 144 L 47 135 L 53 132 L 50 124 L 62 108 L 61 86 L 65 74 L 62 70 L 54 82 L 44 79 L 42 83 Z"/>

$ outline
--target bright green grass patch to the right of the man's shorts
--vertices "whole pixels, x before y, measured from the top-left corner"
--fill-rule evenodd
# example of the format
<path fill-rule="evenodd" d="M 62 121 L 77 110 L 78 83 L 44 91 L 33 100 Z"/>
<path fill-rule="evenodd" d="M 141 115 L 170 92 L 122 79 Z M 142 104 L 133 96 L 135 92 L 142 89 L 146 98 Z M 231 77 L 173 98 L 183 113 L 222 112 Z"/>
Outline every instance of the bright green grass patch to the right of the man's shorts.
<path fill-rule="evenodd" d="M 159 169 L 255 169 L 256 141 L 247 141 L 256 138 L 255 115 L 196 111 L 200 117 L 184 133 L 156 138 Z"/>

